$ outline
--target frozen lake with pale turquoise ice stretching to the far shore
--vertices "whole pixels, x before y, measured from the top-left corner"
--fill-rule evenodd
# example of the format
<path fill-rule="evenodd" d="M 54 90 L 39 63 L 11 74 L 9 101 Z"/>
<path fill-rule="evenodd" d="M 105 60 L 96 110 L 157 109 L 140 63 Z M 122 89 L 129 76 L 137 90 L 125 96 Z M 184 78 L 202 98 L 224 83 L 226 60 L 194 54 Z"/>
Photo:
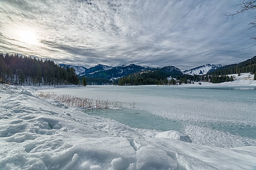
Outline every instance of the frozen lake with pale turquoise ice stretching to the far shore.
<path fill-rule="evenodd" d="M 178 130 L 208 146 L 256 146 L 256 87 L 87 86 L 45 91 L 122 102 L 122 110 L 86 113 L 131 127 Z"/>

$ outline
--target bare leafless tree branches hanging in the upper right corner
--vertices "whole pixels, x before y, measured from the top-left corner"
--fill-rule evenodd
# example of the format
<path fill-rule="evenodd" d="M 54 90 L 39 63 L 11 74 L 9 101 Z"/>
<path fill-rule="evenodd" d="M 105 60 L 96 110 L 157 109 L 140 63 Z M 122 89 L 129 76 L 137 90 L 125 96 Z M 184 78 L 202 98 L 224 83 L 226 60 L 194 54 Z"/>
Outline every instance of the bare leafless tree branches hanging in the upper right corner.
<path fill-rule="evenodd" d="M 256 0 L 243 0 L 243 2 L 241 4 L 238 4 L 242 10 L 236 11 L 234 14 L 229 14 L 229 15 L 225 15 L 225 16 L 234 16 L 236 14 L 240 14 L 243 13 L 247 10 L 255 10 L 256 9 Z M 250 25 L 251 27 L 248 28 L 256 28 L 256 16 L 254 16 L 253 18 L 253 22 L 248 23 L 248 25 Z M 248 36 L 250 39 L 256 40 L 256 36 L 254 36 L 254 34 L 252 34 L 252 36 Z"/>

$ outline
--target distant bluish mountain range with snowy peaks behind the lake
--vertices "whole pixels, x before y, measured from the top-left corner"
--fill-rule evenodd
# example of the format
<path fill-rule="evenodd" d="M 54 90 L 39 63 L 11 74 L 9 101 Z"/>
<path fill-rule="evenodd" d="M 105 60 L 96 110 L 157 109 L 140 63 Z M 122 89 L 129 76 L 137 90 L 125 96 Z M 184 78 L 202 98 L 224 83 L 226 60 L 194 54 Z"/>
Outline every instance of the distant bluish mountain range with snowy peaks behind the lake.
<path fill-rule="evenodd" d="M 222 67 L 222 65 L 213 65 L 206 64 L 190 70 L 181 71 L 179 68 L 174 66 L 165 66 L 165 67 L 143 67 L 140 65 L 130 64 L 122 65 L 118 67 L 112 67 L 108 65 L 98 64 L 95 67 L 86 68 L 83 66 L 59 64 L 61 67 L 74 67 L 76 74 L 78 76 L 93 77 L 93 78 L 106 78 L 112 79 L 117 77 L 124 77 L 133 73 L 143 72 L 143 71 L 163 71 L 166 73 L 171 73 L 174 77 L 180 74 L 189 74 L 189 75 L 204 75 L 209 71 L 214 71 Z"/>

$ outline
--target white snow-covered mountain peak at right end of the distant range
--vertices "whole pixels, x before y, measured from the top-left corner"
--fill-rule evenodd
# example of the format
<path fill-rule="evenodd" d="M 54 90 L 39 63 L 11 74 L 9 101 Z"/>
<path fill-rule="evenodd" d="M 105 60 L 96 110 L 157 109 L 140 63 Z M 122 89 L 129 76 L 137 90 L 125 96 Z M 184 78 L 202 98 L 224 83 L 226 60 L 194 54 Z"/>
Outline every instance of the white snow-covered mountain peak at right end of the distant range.
<path fill-rule="evenodd" d="M 214 64 L 206 64 L 206 65 L 201 65 L 199 67 L 190 69 L 190 70 L 185 70 L 183 71 L 184 74 L 189 74 L 189 75 L 205 75 L 206 73 L 216 70 L 218 68 L 222 67 L 222 65 L 214 65 Z"/>

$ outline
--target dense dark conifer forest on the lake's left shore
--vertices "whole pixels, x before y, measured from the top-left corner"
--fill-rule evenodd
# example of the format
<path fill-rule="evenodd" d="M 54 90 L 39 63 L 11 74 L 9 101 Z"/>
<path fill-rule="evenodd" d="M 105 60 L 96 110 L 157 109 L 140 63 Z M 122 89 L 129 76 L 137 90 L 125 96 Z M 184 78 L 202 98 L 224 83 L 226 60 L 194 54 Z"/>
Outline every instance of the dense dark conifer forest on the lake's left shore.
<path fill-rule="evenodd" d="M 59 67 L 54 61 L 18 54 L 0 54 L 0 83 L 10 85 L 67 85 L 79 83 L 74 68 Z"/>

